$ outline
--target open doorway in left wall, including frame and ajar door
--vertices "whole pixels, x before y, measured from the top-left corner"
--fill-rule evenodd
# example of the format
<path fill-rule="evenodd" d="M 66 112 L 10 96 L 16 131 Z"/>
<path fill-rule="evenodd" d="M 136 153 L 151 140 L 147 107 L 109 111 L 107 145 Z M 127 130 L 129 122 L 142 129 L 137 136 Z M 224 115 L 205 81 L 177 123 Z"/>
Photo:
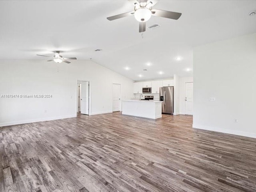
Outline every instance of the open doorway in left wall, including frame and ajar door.
<path fill-rule="evenodd" d="M 89 81 L 77 81 L 77 112 L 89 115 Z"/>

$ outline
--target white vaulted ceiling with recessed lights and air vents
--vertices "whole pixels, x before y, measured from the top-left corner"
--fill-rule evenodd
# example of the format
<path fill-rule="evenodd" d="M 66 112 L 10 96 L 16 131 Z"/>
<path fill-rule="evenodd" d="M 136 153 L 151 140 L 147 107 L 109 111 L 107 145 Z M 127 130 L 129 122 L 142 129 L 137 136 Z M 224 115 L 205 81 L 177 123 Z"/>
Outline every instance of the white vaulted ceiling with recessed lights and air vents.
<path fill-rule="evenodd" d="M 193 67 L 194 46 L 256 32 L 256 16 L 248 16 L 256 10 L 255 0 L 162 0 L 154 8 L 182 16 L 179 20 L 152 16 L 146 26 L 161 27 L 146 28 L 142 39 L 134 16 L 106 19 L 132 11 L 126 0 L 0 1 L 0 59 L 43 60 L 36 54 L 63 50 L 65 57 L 92 58 L 132 80 L 192 76 L 186 69 Z M 152 65 L 146 66 L 148 62 Z"/>

